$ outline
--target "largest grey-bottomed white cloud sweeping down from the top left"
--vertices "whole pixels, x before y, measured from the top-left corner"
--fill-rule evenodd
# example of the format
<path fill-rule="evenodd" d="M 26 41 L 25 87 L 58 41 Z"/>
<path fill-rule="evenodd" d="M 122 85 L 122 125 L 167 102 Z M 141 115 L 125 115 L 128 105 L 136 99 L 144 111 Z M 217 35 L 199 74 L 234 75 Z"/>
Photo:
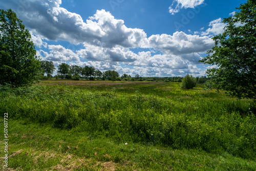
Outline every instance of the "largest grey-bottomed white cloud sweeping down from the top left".
<path fill-rule="evenodd" d="M 10 0 L 5 5 L 14 9 L 18 18 L 37 36 L 103 47 L 134 48 L 147 44 L 147 36 L 142 29 L 127 28 L 123 20 L 115 19 L 105 10 L 97 10 L 84 22 L 79 14 L 60 7 L 60 0 L 27 2 L 29 6 L 24 11 L 20 10 L 19 7 L 23 6 L 16 0 Z"/>

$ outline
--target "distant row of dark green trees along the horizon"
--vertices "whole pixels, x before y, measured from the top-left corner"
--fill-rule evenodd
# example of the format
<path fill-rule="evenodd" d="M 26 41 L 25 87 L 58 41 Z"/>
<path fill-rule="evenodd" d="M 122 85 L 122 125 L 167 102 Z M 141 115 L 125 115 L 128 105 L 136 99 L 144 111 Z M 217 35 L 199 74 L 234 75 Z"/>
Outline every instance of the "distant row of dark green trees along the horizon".
<path fill-rule="evenodd" d="M 40 61 L 41 63 L 41 79 L 48 79 L 53 77 L 53 71 L 56 69 L 52 61 Z M 115 70 L 108 70 L 101 72 L 96 70 L 94 67 L 84 66 L 80 67 L 77 65 L 68 65 L 67 63 L 61 63 L 58 67 L 56 78 L 66 78 L 79 80 L 80 78 L 94 80 L 112 80 L 112 81 L 164 81 L 164 82 L 182 82 L 183 77 L 141 77 L 136 74 L 134 77 L 128 74 L 120 76 Z M 47 75 L 47 76 L 45 76 Z M 205 83 L 207 81 L 206 76 L 196 77 L 197 83 Z"/>

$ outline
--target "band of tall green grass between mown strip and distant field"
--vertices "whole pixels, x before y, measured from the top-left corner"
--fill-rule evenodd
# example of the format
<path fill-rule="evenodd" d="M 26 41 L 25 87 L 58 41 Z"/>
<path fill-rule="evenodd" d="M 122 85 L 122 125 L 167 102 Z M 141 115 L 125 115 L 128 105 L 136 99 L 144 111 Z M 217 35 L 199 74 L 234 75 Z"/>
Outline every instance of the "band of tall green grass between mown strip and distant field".
<path fill-rule="evenodd" d="M 113 86 L 2 86 L 0 111 L 118 142 L 140 142 L 256 157 L 255 106 L 176 83 Z"/>

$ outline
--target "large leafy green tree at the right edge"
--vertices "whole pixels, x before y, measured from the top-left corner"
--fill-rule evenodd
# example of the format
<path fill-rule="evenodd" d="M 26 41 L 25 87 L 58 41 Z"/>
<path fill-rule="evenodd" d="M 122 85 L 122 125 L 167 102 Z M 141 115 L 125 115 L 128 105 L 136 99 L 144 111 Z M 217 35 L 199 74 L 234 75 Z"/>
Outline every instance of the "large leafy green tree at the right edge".
<path fill-rule="evenodd" d="M 223 89 L 238 98 L 256 99 L 256 2 L 248 0 L 233 16 L 224 18 L 224 33 L 214 36 L 215 46 L 199 60 L 208 69 L 208 88 Z"/>

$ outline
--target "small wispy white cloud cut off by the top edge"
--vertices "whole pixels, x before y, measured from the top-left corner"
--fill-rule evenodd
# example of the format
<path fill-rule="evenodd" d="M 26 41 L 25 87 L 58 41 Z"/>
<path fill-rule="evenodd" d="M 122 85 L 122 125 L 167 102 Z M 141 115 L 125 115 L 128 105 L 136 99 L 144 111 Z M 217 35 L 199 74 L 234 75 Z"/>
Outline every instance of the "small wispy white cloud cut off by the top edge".
<path fill-rule="evenodd" d="M 169 7 L 169 13 L 174 15 L 175 13 L 179 12 L 182 8 L 195 8 L 203 4 L 204 0 L 174 0 L 173 4 Z M 176 7 L 174 8 L 174 4 Z"/>

